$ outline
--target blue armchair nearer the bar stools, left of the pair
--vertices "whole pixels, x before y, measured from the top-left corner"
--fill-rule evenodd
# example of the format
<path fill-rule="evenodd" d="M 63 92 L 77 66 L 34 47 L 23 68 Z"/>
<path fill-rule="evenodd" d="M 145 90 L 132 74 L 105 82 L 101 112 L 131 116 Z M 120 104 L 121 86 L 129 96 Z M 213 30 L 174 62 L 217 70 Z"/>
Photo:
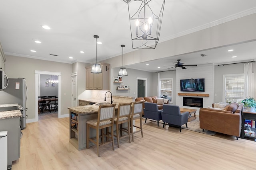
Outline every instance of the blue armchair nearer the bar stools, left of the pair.
<path fill-rule="evenodd" d="M 148 119 L 153 119 L 157 121 L 157 126 L 159 126 L 159 121 L 162 120 L 161 110 L 158 110 L 156 103 L 145 102 L 144 103 L 144 117 L 146 118 L 145 123 Z"/>

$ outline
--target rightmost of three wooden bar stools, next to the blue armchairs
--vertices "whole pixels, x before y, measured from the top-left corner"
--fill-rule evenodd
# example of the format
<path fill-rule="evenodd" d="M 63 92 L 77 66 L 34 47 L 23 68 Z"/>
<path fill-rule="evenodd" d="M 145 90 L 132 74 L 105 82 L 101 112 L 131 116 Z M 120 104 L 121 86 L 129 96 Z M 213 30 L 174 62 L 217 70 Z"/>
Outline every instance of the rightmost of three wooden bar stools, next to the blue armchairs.
<path fill-rule="evenodd" d="M 139 101 L 139 102 L 133 102 L 132 103 L 132 115 L 131 115 L 131 131 L 132 131 L 132 141 L 134 142 L 134 133 L 141 132 L 141 136 L 143 137 L 143 130 L 142 130 L 142 112 L 143 112 L 143 103 L 144 101 Z M 133 125 L 133 121 L 140 119 L 140 127 Z M 138 131 L 133 131 L 133 127 L 137 127 L 140 130 Z"/>

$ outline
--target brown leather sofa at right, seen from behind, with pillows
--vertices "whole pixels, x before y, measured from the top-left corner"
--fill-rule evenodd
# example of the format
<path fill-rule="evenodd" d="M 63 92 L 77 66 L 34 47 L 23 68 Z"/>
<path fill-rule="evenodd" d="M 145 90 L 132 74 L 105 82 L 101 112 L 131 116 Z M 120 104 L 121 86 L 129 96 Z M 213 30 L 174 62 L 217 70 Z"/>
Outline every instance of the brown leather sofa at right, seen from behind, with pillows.
<path fill-rule="evenodd" d="M 214 107 L 214 104 L 212 105 Z M 217 110 L 201 108 L 199 111 L 200 128 L 235 136 L 238 140 L 241 133 L 241 115 L 243 105 L 232 103 Z"/>

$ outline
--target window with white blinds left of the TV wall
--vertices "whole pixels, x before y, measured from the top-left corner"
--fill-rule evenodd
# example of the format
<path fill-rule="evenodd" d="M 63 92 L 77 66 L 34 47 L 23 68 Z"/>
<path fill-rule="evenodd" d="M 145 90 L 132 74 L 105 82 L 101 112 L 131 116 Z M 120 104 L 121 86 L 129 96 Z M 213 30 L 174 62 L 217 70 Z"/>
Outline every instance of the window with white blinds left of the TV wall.
<path fill-rule="evenodd" d="M 172 101 L 172 78 L 160 79 L 160 98 L 167 95 L 169 101 Z"/>

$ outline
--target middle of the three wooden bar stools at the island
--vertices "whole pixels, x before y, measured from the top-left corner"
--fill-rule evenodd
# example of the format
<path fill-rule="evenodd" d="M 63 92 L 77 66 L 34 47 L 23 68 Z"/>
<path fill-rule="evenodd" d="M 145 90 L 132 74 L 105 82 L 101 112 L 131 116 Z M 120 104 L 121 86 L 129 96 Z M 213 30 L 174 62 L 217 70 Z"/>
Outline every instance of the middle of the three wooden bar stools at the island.
<path fill-rule="evenodd" d="M 117 146 L 119 147 L 119 139 L 123 137 L 129 137 L 129 142 L 131 143 L 131 138 L 130 138 L 130 117 L 132 113 L 132 102 L 130 103 L 122 103 L 118 105 L 118 113 L 117 116 L 114 118 L 114 124 L 116 124 L 116 135 L 114 135 L 117 139 Z M 126 123 L 128 124 L 128 128 L 123 129 L 122 124 Z M 119 127 L 120 125 L 120 127 Z M 119 134 L 120 130 L 120 134 Z M 122 136 L 122 131 L 126 132 L 127 135 Z"/>

